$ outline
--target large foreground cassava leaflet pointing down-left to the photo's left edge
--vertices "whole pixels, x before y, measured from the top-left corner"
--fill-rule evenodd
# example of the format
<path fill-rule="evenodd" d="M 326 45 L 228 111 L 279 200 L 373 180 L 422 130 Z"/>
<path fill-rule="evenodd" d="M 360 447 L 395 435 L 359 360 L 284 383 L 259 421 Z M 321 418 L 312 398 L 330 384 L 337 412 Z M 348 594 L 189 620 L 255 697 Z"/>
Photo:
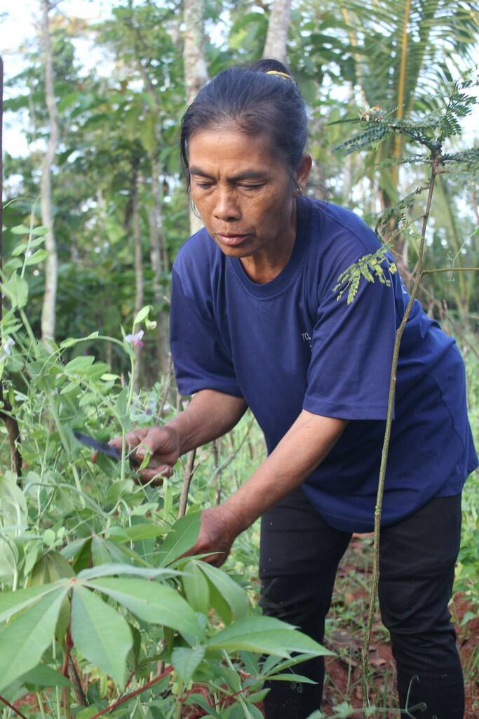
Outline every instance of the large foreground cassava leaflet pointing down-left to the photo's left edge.
<path fill-rule="evenodd" d="M 0 692 L 39 663 L 55 636 L 58 614 L 68 588 L 48 592 L 1 630 Z"/>

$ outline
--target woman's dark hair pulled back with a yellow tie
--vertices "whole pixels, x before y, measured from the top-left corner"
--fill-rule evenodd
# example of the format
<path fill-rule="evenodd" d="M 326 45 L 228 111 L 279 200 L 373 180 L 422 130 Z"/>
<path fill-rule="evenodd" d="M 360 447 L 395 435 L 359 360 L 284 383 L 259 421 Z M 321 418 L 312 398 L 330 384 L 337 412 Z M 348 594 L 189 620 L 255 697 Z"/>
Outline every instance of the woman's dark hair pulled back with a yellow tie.
<path fill-rule="evenodd" d="M 284 73 L 287 78 L 277 74 Z M 182 118 L 180 153 L 187 177 L 188 141 L 201 130 L 235 124 L 241 132 L 266 132 L 290 173 L 301 160 L 307 139 L 304 100 L 289 70 L 278 60 L 222 70 L 197 94 Z"/>

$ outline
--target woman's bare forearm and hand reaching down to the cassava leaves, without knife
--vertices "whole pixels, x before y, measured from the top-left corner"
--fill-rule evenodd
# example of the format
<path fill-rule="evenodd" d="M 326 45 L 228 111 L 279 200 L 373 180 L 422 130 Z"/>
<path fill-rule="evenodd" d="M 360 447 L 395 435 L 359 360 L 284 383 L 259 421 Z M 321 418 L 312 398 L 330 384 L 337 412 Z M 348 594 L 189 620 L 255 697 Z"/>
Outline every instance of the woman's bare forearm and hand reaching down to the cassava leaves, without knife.
<path fill-rule="evenodd" d="M 239 533 L 298 487 L 327 456 L 348 420 L 302 410 L 269 457 L 225 503 L 206 509 L 200 536 L 190 554 L 212 553 L 205 561 L 220 567 Z"/>

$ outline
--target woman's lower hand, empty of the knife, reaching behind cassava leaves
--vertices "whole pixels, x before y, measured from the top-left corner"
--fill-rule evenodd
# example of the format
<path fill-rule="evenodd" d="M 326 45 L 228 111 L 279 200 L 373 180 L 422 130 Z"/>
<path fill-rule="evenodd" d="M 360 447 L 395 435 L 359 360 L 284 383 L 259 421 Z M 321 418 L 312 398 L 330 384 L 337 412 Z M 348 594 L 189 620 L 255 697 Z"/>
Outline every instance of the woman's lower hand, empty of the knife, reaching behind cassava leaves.
<path fill-rule="evenodd" d="M 201 513 L 200 534 L 195 546 L 192 546 L 183 557 L 192 554 L 209 554 L 203 562 L 220 567 L 225 562 L 242 527 L 239 518 L 228 507 L 219 504 Z"/>

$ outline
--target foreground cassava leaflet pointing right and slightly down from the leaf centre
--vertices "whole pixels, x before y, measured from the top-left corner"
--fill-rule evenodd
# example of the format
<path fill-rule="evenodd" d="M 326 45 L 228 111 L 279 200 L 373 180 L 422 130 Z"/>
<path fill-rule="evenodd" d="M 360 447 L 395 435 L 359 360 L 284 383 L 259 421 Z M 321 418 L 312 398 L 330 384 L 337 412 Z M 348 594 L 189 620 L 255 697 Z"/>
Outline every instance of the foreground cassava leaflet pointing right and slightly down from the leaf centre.
<path fill-rule="evenodd" d="M 195 612 L 172 587 L 145 580 L 106 579 L 89 582 L 145 622 L 163 624 L 182 634 L 203 635 Z"/>

